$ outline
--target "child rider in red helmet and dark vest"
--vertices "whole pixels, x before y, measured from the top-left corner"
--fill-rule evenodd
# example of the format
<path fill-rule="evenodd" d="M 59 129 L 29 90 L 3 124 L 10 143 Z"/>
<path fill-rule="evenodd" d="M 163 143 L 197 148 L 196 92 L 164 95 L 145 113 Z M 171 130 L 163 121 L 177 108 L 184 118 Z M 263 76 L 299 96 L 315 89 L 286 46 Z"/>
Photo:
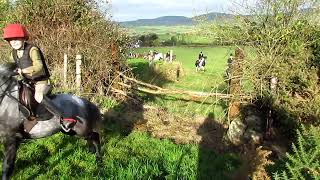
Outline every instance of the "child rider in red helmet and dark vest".
<path fill-rule="evenodd" d="M 9 24 L 4 28 L 3 38 L 8 41 L 12 47 L 10 58 L 17 65 L 17 72 L 28 82 L 34 84 L 35 100 L 43 104 L 54 116 L 62 122 L 63 116 L 61 110 L 49 99 L 49 70 L 44 60 L 42 51 L 27 42 L 29 35 L 26 28 L 21 24 Z M 61 123 L 63 128 L 69 129 Z"/>

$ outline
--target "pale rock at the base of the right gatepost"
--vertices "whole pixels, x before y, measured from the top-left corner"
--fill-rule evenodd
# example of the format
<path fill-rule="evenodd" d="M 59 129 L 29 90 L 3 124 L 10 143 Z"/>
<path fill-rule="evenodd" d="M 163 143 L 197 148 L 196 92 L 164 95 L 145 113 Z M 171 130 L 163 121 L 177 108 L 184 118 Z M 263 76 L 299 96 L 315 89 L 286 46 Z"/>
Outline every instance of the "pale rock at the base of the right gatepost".
<path fill-rule="evenodd" d="M 227 132 L 227 137 L 231 143 L 239 145 L 243 143 L 243 134 L 246 130 L 246 125 L 241 120 L 233 120 Z"/>

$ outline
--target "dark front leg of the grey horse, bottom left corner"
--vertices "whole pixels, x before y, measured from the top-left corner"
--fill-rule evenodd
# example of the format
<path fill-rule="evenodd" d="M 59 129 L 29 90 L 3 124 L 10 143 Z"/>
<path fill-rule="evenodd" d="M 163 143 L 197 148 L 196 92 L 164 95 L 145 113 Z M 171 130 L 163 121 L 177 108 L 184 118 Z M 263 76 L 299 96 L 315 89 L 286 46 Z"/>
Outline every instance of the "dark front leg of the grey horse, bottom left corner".
<path fill-rule="evenodd" d="M 10 137 L 4 143 L 4 158 L 2 165 L 2 180 L 9 179 L 13 173 L 16 160 L 19 140 L 16 137 Z"/>

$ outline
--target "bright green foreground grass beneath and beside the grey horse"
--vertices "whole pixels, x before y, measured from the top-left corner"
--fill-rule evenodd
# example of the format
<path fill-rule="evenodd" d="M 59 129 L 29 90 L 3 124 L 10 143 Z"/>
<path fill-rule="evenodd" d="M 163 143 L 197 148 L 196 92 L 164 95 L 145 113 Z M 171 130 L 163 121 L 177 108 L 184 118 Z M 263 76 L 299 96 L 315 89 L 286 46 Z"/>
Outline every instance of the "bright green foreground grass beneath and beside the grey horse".
<path fill-rule="evenodd" d="M 226 179 L 239 166 L 234 154 L 218 156 L 195 145 L 132 132 L 111 132 L 97 163 L 83 140 L 57 134 L 21 145 L 13 179 Z"/>

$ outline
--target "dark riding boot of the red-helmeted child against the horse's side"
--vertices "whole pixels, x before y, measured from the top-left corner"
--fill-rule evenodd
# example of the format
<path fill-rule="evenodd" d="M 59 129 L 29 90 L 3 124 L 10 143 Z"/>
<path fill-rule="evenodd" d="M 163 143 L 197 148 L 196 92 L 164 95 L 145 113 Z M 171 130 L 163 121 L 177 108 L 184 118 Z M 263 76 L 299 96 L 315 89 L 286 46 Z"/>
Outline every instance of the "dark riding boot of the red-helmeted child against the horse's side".
<path fill-rule="evenodd" d="M 47 96 L 43 97 L 43 100 L 41 101 L 41 104 L 44 105 L 44 107 L 51 112 L 54 116 L 56 116 L 58 119 L 60 119 L 61 126 L 63 130 L 70 131 L 70 128 L 75 124 L 75 122 L 69 122 L 63 120 L 63 114 L 59 107 L 57 107 L 51 99 L 49 99 Z"/>

